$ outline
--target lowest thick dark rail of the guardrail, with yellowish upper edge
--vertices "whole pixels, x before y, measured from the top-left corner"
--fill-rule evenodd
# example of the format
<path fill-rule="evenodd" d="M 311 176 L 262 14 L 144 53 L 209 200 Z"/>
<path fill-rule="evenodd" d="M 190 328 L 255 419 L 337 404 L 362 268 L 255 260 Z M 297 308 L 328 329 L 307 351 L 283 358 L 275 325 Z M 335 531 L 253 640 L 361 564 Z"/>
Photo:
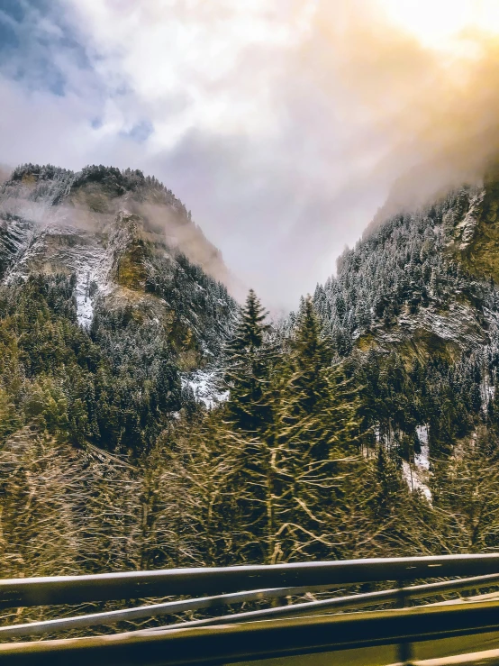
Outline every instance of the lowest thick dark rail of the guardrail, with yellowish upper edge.
<path fill-rule="evenodd" d="M 499 631 L 499 602 L 0 645 L 3 666 L 214 666 Z"/>

